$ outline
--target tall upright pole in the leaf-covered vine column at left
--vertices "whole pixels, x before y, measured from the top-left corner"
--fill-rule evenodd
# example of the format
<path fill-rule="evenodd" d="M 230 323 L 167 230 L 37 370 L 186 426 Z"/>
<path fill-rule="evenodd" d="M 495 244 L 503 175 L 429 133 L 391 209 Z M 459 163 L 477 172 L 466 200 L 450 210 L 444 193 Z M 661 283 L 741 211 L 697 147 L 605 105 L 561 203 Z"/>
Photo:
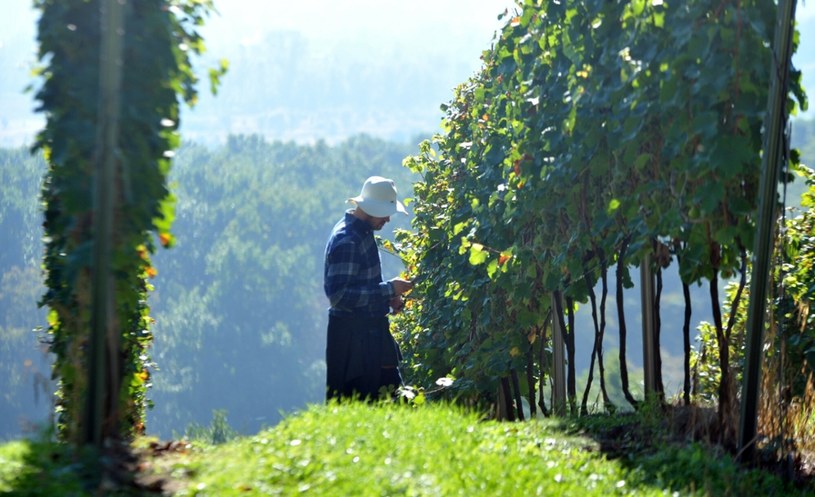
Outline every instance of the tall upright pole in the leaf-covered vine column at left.
<path fill-rule="evenodd" d="M 115 163 L 119 135 L 119 93 L 122 86 L 122 52 L 125 0 L 102 0 L 99 58 L 99 108 L 93 180 L 93 308 L 88 353 L 88 389 L 84 416 L 84 442 L 102 448 L 115 423 L 118 386 L 112 380 L 108 348 L 115 334 L 113 312 L 112 250 Z"/>

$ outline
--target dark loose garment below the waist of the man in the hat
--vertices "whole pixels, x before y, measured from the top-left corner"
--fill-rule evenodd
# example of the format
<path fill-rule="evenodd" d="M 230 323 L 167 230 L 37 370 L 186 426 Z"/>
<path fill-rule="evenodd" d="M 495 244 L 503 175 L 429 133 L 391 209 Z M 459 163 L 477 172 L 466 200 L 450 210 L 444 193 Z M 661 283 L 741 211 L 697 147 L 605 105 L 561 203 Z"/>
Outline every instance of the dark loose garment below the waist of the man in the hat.
<path fill-rule="evenodd" d="M 379 397 L 383 387 L 393 393 L 402 384 L 399 346 L 390 334 L 388 317 L 328 317 L 325 349 L 326 400 Z"/>

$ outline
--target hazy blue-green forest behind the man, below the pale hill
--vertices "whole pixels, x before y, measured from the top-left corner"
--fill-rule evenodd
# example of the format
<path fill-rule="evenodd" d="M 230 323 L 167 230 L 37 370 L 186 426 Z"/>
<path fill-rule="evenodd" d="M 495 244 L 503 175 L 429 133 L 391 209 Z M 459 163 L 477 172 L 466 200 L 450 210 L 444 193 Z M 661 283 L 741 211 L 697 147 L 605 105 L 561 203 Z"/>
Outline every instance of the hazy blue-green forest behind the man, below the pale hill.
<path fill-rule="evenodd" d="M 793 129 L 802 162 L 815 165 L 815 122 L 797 120 Z M 149 299 L 156 323 L 148 433 L 183 434 L 208 424 L 215 410 L 250 433 L 322 401 L 326 237 L 367 176 L 393 177 L 411 196 L 414 178 L 401 163 L 420 139 L 359 135 L 302 145 L 245 135 L 181 147 L 171 174 L 178 243 L 154 256 Z M 55 390 L 39 342 L 46 337 L 32 331 L 46 324 L 37 307 L 44 172 L 42 158 L 26 148 L 0 149 L 0 439 L 46 421 Z M 787 203 L 797 203 L 802 189 L 793 184 Z M 408 228 L 409 218 L 394 219 L 382 235 L 394 227 Z M 382 259 L 386 276 L 401 270 L 395 257 Z M 666 295 L 677 291 L 670 285 Z M 668 306 L 663 312 L 670 319 Z M 664 347 L 671 350 L 674 338 Z M 636 347 L 630 360 L 639 360 Z"/>

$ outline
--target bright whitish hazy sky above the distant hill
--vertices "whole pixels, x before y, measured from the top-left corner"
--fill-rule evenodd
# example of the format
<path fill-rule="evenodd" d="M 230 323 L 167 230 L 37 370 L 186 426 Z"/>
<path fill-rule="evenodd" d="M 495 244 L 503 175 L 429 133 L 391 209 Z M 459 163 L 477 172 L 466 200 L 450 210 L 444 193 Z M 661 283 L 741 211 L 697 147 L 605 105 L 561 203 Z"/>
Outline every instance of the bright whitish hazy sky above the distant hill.
<path fill-rule="evenodd" d="M 0 49 L 12 39 L 31 40 L 28 66 L 34 62 L 36 13 L 31 0 L 0 0 Z M 454 51 L 470 67 L 479 66 L 481 50 L 496 29 L 497 15 L 512 0 L 215 0 L 219 11 L 202 30 L 209 54 L 221 47 L 251 46 L 267 31 L 290 29 L 317 42 L 365 38 L 372 44 L 408 51 Z M 815 0 L 798 1 L 799 22 L 815 19 Z M 815 50 L 815 33 L 802 30 L 799 53 Z M 23 60 L 22 54 L 0 50 L 0 57 Z M 208 66 L 208 64 L 204 64 Z M 16 66 L 28 72 L 25 63 Z M 815 67 L 803 67 L 806 86 L 815 87 Z M 464 81 L 470 73 L 462 74 Z M 3 77 L 0 75 L 0 77 Z M 808 115 L 812 116 L 813 111 Z"/>

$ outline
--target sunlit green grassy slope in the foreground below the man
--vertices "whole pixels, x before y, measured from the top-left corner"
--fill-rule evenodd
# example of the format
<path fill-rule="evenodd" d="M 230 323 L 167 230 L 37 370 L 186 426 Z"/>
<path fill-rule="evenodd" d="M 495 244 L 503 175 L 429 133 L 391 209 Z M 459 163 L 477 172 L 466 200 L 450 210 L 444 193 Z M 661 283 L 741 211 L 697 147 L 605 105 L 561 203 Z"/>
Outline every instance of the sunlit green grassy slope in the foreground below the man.
<path fill-rule="evenodd" d="M 31 467 L 38 458 L 21 457 L 26 447 L 0 446 L 0 493 L 52 495 L 26 485 L 78 479 L 47 457 Z M 439 405 L 313 407 L 255 436 L 151 466 L 179 480 L 182 496 L 815 495 L 699 446 L 609 460 L 562 422 L 482 422 Z"/>

